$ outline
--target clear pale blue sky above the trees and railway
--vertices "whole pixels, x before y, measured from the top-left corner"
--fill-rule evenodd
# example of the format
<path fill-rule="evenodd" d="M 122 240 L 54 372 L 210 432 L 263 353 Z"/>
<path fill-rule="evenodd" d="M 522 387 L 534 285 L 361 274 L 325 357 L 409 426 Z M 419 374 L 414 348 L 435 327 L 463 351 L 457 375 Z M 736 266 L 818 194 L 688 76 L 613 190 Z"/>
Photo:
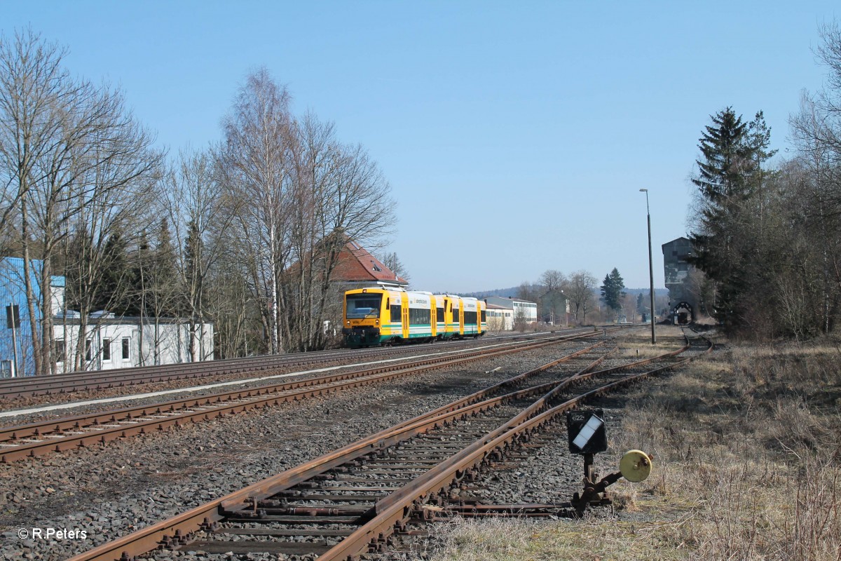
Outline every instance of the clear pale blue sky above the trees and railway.
<path fill-rule="evenodd" d="M 686 233 L 709 115 L 759 110 L 785 155 L 822 86 L 836 2 L 4 2 L 66 45 L 71 73 L 124 89 L 161 144 L 206 146 L 246 73 L 336 122 L 397 200 L 389 246 L 418 289 L 469 292 L 542 271 L 618 267 L 648 286 Z M 457 211 L 461 218 L 457 218 Z"/>

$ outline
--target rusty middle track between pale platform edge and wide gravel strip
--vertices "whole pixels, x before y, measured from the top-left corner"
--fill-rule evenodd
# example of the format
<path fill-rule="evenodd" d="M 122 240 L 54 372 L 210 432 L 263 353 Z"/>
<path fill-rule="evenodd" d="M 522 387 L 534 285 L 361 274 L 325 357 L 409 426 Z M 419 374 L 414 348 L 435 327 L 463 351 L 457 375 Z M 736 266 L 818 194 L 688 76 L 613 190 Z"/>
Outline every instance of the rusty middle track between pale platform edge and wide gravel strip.
<path fill-rule="evenodd" d="M 0 427 L 0 463 L 10 463 L 22 458 L 61 452 L 76 447 L 89 447 L 115 439 L 162 431 L 172 426 L 209 421 L 246 410 L 304 400 L 316 395 L 331 394 L 363 385 L 378 384 L 431 369 L 456 367 L 484 358 L 523 352 L 591 335 L 592 332 L 587 332 L 584 335 L 543 337 L 538 341 L 514 341 L 494 347 L 468 349 L 458 354 L 382 364 L 374 368 L 361 368 L 352 372 L 305 378 L 283 384 L 235 389 L 151 405 Z"/>

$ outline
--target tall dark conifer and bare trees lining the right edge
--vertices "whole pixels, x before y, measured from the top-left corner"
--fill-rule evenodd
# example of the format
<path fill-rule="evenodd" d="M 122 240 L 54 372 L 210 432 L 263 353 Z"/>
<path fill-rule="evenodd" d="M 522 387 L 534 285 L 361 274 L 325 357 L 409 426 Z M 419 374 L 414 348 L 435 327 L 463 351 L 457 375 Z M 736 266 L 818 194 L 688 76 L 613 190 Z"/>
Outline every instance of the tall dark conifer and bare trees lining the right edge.
<path fill-rule="evenodd" d="M 821 29 L 822 91 L 790 118 L 791 156 L 775 160 L 759 111 L 711 116 L 692 178 L 691 262 L 701 308 L 727 331 L 802 340 L 833 331 L 841 304 L 841 30 Z"/>

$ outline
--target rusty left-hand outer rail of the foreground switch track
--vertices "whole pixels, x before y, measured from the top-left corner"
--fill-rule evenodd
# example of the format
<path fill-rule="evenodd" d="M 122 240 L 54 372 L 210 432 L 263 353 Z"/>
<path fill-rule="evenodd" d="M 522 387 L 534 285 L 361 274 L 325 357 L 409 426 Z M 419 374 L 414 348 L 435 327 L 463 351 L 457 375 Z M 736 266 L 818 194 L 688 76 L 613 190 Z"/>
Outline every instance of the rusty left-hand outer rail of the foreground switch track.
<path fill-rule="evenodd" d="M 575 378 L 588 369 L 595 367 L 601 360 L 603 360 L 603 357 L 590 363 L 588 367 L 569 378 Z M 674 365 L 668 365 L 666 368 L 674 368 Z M 518 376 L 512 379 L 516 378 L 521 377 Z M 621 382 L 627 383 L 628 379 L 630 378 L 621 380 Z M 474 396 L 475 394 L 463 398 L 460 401 L 471 400 Z M 447 408 L 445 406 L 444 408 L 439 408 L 424 415 L 419 415 L 415 419 L 401 424 L 402 426 L 397 431 L 394 431 L 393 428 L 380 431 L 332 453 L 316 458 L 311 462 L 291 468 L 282 474 L 263 479 L 260 482 L 249 485 L 245 489 L 235 491 L 230 495 L 225 495 L 225 497 L 195 507 L 167 521 L 161 521 L 128 536 L 119 537 L 113 542 L 108 542 L 86 553 L 79 554 L 72 558 L 71 561 L 104 561 L 120 558 L 121 555 L 123 558 L 130 558 L 133 555 L 139 555 L 158 548 L 162 543 L 172 543 L 173 540 L 177 542 L 184 537 L 188 537 L 192 532 L 196 532 L 200 528 L 209 528 L 214 522 L 222 520 L 225 518 L 225 512 L 241 510 L 248 505 L 256 505 L 257 500 L 288 489 L 294 484 L 299 484 L 316 474 L 338 467 L 342 463 L 346 463 L 373 451 L 384 449 L 396 442 L 402 442 L 409 437 L 428 431 L 433 427 L 442 426 L 444 423 L 457 418 L 463 418 L 481 410 L 487 410 L 506 397 L 510 397 L 510 394 L 508 396 L 500 396 L 495 400 L 486 400 L 467 405 L 458 410 L 442 411 L 442 409 Z M 366 532 L 369 529 L 368 526 L 363 528 L 365 528 Z"/>

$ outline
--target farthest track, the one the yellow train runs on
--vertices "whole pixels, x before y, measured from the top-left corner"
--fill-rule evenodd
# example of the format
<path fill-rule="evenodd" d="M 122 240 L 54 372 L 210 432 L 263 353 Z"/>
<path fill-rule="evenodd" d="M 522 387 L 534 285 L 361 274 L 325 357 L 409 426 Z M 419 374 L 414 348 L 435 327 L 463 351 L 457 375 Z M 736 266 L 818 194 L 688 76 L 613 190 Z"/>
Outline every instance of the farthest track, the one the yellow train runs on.
<path fill-rule="evenodd" d="M 574 330 L 570 332 L 590 332 L 592 330 Z M 502 336 L 500 339 L 535 339 L 536 336 Z M 537 337 L 539 338 L 539 337 Z M 452 341 L 454 345 L 463 342 Z M 449 347 L 449 345 L 448 345 Z M 168 364 L 138 368 L 117 368 L 114 370 L 95 370 L 52 374 L 50 376 L 29 376 L 24 378 L 0 379 L 0 401 L 41 395 L 63 395 L 85 390 L 103 390 L 134 387 L 142 384 L 156 384 L 183 379 L 199 379 L 211 376 L 233 375 L 241 373 L 261 373 L 277 370 L 301 368 L 316 364 L 342 363 L 350 360 L 383 357 L 405 352 L 412 352 L 415 346 L 378 347 L 369 349 L 341 349 L 338 351 L 299 352 L 283 355 L 264 355 L 260 357 L 235 358 L 201 363 Z M 458 347 L 455 347 L 458 348 Z"/>

